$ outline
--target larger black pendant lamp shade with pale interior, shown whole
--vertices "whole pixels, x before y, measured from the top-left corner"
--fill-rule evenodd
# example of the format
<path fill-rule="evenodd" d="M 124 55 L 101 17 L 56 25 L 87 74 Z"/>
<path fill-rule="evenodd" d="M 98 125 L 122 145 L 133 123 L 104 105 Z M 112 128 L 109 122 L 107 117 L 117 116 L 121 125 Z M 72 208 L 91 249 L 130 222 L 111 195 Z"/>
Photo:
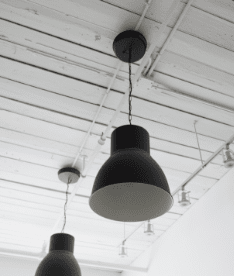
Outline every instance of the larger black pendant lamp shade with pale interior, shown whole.
<path fill-rule="evenodd" d="M 150 156 L 149 133 L 136 125 L 116 128 L 111 156 L 95 178 L 91 209 L 107 219 L 136 222 L 161 216 L 172 204 L 167 179 Z"/>

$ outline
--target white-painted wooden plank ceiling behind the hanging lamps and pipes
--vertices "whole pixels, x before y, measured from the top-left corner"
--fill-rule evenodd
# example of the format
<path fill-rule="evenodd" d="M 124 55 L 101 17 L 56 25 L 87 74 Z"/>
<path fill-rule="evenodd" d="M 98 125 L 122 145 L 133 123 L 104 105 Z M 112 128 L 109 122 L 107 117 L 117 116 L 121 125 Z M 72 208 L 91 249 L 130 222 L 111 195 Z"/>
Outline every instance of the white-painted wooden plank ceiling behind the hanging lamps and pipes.
<path fill-rule="evenodd" d="M 173 1 L 152 0 L 139 31 L 148 49 L 156 41 L 153 58 L 187 2 L 179 2 L 159 36 L 157 31 Z M 37 254 L 56 222 L 54 233 L 62 230 L 63 217 L 58 219 L 66 185 L 57 172 L 72 165 L 84 144 L 118 66 L 113 40 L 135 28 L 144 3 L 0 1 L 0 252 Z M 195 121 L 203 160 L 234 133 L 233 24 L 233 1 L 194 0 L 153 74 L 148 79 L 142 76 L 133 89 L 132 124 L 149 132 L 150 154 L 162 167 L 171 192 L 201 165 Z M 132 64 L 133 75 L 142 60 Z M 86 164 L 126 91 L 125 63 L 82 149 Z M 67 209 L 64 232 L 75 237 L 75 256 L 87 262 L 130 266 L 228 171 L 219 154 L 187 185 L 189 207 L 180 207 L 176 195 L 171 210 L 151 221 L 155 236 L 146 237 L 142 223 L 126 223 L 126 236 L 140 227 L 126 242 L 128 258 L 121 259 L 118 246 L 124 236 L 123 223 L 96 215 L 88 198 L 98 170 L 110 156 L 112 131 L 126 124 L 128 100 L 86 178 L 80 178 Z M 75 167 L 82 171 L 82 164 L 79 156 Z"/>

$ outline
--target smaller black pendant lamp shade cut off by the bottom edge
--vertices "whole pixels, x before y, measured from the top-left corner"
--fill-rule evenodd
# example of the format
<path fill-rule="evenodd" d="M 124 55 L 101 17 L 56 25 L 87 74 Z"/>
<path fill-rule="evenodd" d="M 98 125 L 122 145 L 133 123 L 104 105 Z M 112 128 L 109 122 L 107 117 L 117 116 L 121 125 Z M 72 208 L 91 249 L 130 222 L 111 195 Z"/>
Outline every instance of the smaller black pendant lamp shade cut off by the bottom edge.
<path fill-rule="evenodd" d="M 35 276 L 81 276 L 77 260 L 73 255 L 74 237 L 57 233 L 50 237 L 50 250 L 40 262 Z"/>

